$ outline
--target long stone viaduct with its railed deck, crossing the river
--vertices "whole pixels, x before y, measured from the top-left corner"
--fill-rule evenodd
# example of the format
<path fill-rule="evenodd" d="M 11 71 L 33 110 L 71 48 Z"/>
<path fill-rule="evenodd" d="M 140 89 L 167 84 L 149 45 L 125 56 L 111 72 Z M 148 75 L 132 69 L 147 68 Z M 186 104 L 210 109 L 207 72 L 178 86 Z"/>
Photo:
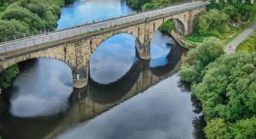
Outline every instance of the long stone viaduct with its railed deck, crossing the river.
<path fill-rule="evenodd" d="M 82 88 L 88 83 L 90 55 L 109 37 L 119 33 L 136 36 L 137 56 L 149 59 L 150 41 L 160 25 L 166 20 L 173 19 L 177 31 L 182 35 L 188 35 L 195 25 L 195 18 L 206 9 L 207 4 L 184 3 L 65 31 L 0 43 L 0 72 L 28 59 L 55 58 L 72 69 L 73 87 Z"/>

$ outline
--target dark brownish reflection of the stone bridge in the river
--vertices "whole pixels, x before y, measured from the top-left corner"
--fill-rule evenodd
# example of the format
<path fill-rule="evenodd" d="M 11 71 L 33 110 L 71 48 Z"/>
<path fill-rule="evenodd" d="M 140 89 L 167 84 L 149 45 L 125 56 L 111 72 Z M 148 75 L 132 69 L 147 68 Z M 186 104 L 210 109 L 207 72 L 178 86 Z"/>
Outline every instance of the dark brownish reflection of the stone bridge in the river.
<path fill-rule="evenodd" d="M 76 90 L 70 98 L 70 108 L 66 114 L 44 120 L 13 118 L 6 121 L 6 118 L 1 118 L 3 125 L 1 132 L 4 132 L 3 135 L 11 135 L 6 136 L 7 138 L 34 139 L 59 136 L 68 128 L 108 111 L 108 109 L 177 73 L 181 64 L 180 59 L 183 57 L 183 50 L 178 46 L 172 47 L 172 52 L 167 56 L 168 64 L 165 66 L 150 68 L 148 61 L 138 61 L 126 75 L 111 85 L 99 85 L 90 81 L 88 87 Z M 16 125 L 20 125 L 20 127 Z"/>

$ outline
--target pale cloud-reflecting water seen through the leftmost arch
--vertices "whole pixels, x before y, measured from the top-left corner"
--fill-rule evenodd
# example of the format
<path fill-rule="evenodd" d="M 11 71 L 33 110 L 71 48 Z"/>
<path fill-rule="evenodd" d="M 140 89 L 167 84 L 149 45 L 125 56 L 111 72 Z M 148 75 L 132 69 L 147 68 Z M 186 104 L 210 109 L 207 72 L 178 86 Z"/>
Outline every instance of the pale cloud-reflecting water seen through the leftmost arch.
<path fill-rule="evenodd" d="M 52 58 L 32 58 L 19 63 L 20 75 L 9 94 L 9 113 L 15 117 L 47 117 L 68 108 L 73 92 L 72 70 Z"/>

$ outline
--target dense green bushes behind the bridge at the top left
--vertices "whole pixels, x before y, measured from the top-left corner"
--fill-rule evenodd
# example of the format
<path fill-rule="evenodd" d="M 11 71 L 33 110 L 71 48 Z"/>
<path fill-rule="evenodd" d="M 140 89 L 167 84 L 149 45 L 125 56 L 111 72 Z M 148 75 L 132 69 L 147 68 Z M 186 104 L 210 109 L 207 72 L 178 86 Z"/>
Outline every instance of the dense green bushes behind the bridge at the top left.
<path fill-rule="evenodd" d="M 56 26 L 56 21 L 61 14 L 61 5 L 64 0 L 18 0 L 15 3 L 11 3 L 9 7 L 2 13 L 2 19 L 6 22 L 12 22 L 12 20 L 19 21 L 20 25 L 28 29 L 27 31 L 20 32 L 20 28 L 14 34 L 3 31 L 4 36 L 17 36 L 27 32 L 38 32 L 45 29 L 51 29 Z M 10 23 L 12 24 L 12 23 Z M 6 24 L 5 24 L 6 25 Z M 15 26 L 19 26 L 15 24 Z M 28 28 L 27 28 L 28 27 Z"/>

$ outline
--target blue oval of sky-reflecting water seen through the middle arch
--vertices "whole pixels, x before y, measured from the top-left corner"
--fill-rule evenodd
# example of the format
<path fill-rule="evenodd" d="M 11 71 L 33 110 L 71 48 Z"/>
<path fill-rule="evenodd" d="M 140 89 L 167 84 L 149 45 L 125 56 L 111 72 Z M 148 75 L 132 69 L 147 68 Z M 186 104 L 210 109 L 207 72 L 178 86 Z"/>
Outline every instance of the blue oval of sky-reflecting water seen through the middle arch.
<path fill-rule="evenodd" d="M 138 60 L 137 37 L 119 33 L 108 37 L 90 56 L 90 80 L 108 85 L 124 76 Z"/>

